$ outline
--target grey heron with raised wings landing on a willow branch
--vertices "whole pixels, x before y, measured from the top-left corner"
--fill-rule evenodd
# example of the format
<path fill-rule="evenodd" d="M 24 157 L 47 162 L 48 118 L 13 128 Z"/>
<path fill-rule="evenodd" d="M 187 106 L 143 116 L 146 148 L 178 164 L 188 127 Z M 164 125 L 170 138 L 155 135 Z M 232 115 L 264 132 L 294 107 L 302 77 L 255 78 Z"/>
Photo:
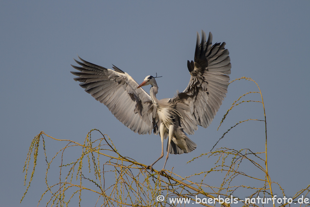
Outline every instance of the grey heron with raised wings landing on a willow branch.
<path fill-rule="evenodd" d="M 159 134 L 162 141 L 160 157 L 164 156 L 164 139 L 168 138 L 167 155 L 188 153 L 197 145 L 187 137 L 194 134 L 197 125 L 207 128 L 226 97 L 231 69 L 229 52 L 225 42 L 212 45 L 212 34 L 206 40 L 206 34 L 197 32 L 194 61 L 187 61 L 191 75 L 187 88 L 177 92 L 173 98 L 158 100 L 158 86 L 151 75 L 138 84 L 129 74 L 115 65 L 107 69 L 80 58 L 71 65 L 80 72 L 71 72 L 78 76 L 80 86 L 85 88 L 100 103 L 108 107 L 112 114 L 126 127 L 138 134 Z M 151 85 L 150 93 L 142 86 Z"/>

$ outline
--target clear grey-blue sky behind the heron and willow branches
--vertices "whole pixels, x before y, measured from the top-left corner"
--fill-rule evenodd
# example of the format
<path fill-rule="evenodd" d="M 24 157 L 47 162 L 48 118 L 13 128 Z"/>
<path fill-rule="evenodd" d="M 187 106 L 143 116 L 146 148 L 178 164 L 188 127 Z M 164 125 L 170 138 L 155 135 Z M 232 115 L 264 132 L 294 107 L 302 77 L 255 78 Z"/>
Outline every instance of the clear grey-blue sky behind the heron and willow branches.
<path fill-rule="evenodd" d="M 213 43 L 226 42 L 231 80 L 246 76 L 259 84 L 268 124 L 269 173 L 287 196 L 293 196 L 310 183 L 309 9 L 309 1 L 2 1 L 0 206 L 36 206 L 46 189 L 41 150 L 29 193 L 19 204 L 26 189 L 24 161 L 40 131 L 83 142 L 97 128 L 122 155 L 153 163 L 161 152 L 160 137 L 126 128 L 73 81 L 70 64 L 75 64 L 77 54 L 107 68 L 114 64 L 138 83 L 157 73 L 163 76 L 157 79 L 157 97 L 173 97 L 188 84 L 186 62 L 194 58 L 196 31 L 201 29 L 212 32 Z M 148 92 L 149 87 L 144 89 Z M 248 103 L 233 110 L 216 130 L 232 102 L 249 91 L 256 91 L 251 82 L 231 84 L 210 127 L 199 127 L 190 136 L 197 149 L 171 155 L 166 169 L 174 167 L 183 176 L 210 169 L 214 161 L 206 158 L 186 162 L 210 151 L 238 121 L 263 119 L 262 107 Z M 47 141 L 48 159 L 61 146 Z M 263 122 L 238 126 L 218 147 L 264 151 Z M 154 168 L 161 169 L 163 163 L 164 159 Z M 84 197 L 86 204 L 95 202 Z"/>

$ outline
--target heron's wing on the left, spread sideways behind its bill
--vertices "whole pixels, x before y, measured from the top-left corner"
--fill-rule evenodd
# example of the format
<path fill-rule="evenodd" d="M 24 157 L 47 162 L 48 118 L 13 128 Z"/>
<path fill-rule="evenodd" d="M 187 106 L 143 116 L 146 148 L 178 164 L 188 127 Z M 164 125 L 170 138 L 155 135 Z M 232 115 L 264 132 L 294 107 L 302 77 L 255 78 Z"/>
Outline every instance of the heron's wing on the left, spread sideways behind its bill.
<path fill-rule="evenodd" d="M 112 114 L 135 133 L 151 134 L 155 126 L 156 110 L 150 96 L 127 73 L 116 66 L 114 70 L 75 60 L 81 67 L 71 65 L 81 72 L 71 72 L 80 86 L 97 101 L 108 107 Z"/>

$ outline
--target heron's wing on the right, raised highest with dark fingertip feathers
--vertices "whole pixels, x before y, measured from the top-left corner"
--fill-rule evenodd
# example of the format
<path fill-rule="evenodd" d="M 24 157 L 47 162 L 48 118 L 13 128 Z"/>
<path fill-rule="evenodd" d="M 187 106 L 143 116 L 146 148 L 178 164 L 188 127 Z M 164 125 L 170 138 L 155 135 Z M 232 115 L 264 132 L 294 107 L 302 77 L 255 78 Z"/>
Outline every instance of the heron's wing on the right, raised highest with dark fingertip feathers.
<path fill-rule="evenodd" d="M 204 31 L 200 43 L 197 32 L 195 59 L 187 62 L 191 79 L 175 98 L 185 133 L 193 134 L 197 125 L 207 128 L 226 97 L 231 64 L 224 46 L 224 42 L 212 46 L 212 34 L 206 41 Z"/>

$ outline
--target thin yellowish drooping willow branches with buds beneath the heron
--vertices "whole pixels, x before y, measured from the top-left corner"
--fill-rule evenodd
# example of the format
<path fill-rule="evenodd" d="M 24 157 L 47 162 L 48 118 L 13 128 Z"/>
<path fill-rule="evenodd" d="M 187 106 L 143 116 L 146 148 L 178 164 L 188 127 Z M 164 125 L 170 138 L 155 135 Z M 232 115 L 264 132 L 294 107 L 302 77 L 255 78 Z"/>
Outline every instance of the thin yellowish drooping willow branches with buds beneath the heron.
<path fill-rule="evenodd" d="M 222 203 L 221 198 L 234 199 L 233 195 L 243 195 L 243 198 L 250 198 L 257 201 L 258 198 L 271 198 L 274 196 L 273 188 L 278 187 L 281 189 L 282 195 L 277 195 L 277 198 L 285 196 L 284 190 L 277 183 L 272 181 L 268 173 L 267 162 L 267 122 L 265 114 L 265 106 L 263 96 L 258 84 L 246 77 L 233 80 L 248 80 L 253 81 L 258 88 L 256 92 L 247 92 L 241 95 L 236 101 L 232 103 L 230 109 L 227 110 L 219 127 L 223 123 L 224 119 L 228 116 L 228 113 L 236 106 L 247 102 L 259 102 L 261 103 L 264 119 L 246 119 L 239 121 L 231 128 L 229 128 L 222 137 L 236 128 L 239 124 L 247 121 L 264 122 L 265 137 L 262 137 L 262 142 L 265 143 L 265 151 L 253 152 L 250 149 L 230 149 L 219 148 L 212 150 L 208 153 L 201 154 L 198 157 L 193 158 L 188 162 L 193 162 L 197 159 L 205 159 L 204 157 L 215 157 L 215 165 L 203 172 L 192 172 L 188 177 L 181 177 L 169 170 L 157 171 L 153 169 L 145 170 L 146 164 L 138 163 L 134 159 L 121 155 L 116 147 L 113 145 L 112 140 L 105 134 L 101 133 L 97 129 L 92 129 L 85 138 L 84 143 L 74 142 L 72 140 L 56 139 L 44 133 L 40 132 L 31 142 L 29 147 L 29 153 L 24 165 L 25 172 L 25 185 L 28 178 L 28 186 L 24 193 L 26 195 L 29 190 L 30 183 L 33 179 L 35 167 L 37 164 L 37 157 L 42 156 L 38 154 L 39 143 L 42 143 L 45 160 L 47 162 L 46 170 L 46 185 L 47 189 L 43 192 L 41 199 L 38 201 L 40 204 L 44 196 L 50 197 L 46 206 L 70 206 L 69 202 L 78 197 L 78 203 L 81 204 L 82 194 L 84 191 L 90 191 L 98 196 L 98 200 L 95 206 L 177 206 L 181 204 L 171 203 L 171 198 L 190 198 L 190 204 L 192 202 L 200 203 L 205 206 L 220 206 L 226 207 L 234 204 Z M 230 83 L 230 84 L 231 84 Z M 243 100 L 248 94 L 258 93 L 259 101 L 257 100 Z M 58 142 L 65 142 L 66 145 L 59 149 L 55 156 L 49 160 L 47 158 L 47 149 L 45 145 L 45 139 L 50 138 Z M 216 145 L 216 144 L 215 144 Z M 73 149 L 74 151 L 80 151 L 80 156 L 75 161 L 70 163 L 64 163 L 65 152 Z M 61 160 L 59 166 L 59 182 L 50 184 L 48 182 L 49 170 L 51 163 L 54 162 L 56 157 L 60 157 Z M 33 166 L 30 164 L 31 158 L 33 159 Z M 203 161 L 203 160 L 202 160 Z M 28 172 L 31 169 L 31 175 Z M 256 169 L 260 173 L 260 177 L 246 173 L 242 169 Z M 194 169 L 193 169 L 194 171 Z M 216 176 L 222 176 L 222 182 L 219 186 L 210 186 L 208 184 L 208 178 L 212 174 L 217 173 Z M 244 183 L 236 184 L 237 178 L 244 178 L 245 180 L 255 181 L 255 186 L 246 185 Z M 197 180 L 200 180 L 197 182 Z M 107 183 L 107 184 L 106 184 Z M 111 184 L 112 183 L 112 184 Z M 250 182 L 253 183 L 253 182 Z M 91 184 L 91 185 L 90 185 Z M 246 194 L 244 194 L 244 189 Z M 241 191 L 243 189 L 243 191 Z M 305 186 L 304 189 L 296 192 L 292 197 L 293 204 L 289 204 L 284 201 L 281 204 L 277 202 L 272 204 L 269 201 L 270 206 L 291 206 L 295 205 L 297 199 L 301 196 L 307 196 L 310 191 L 310 185 Z M 165 195 L 164 200 L 159 202 L 157 196 Z M 22 197 L 21 201 L 23 200 Z M 240 197 L 240 196 L 239 196 Z M 196 198 L 199 198 L 196 200 Z M 205 199 L 202 199 L 205 198 Z M 210 204 L 210 200 L 215 201 Z M 238 200 L 237 206 L 264 206 L 261 202 L 258 203 L 246 203 L 245 200 Z M 184 204 L 182 205 L 186 205 Z M 220 203 L 219 203 L 220 202 Z M 72 202 L 70 204 L 73 204 Z M 241 205 L 240 205 L 241 204 Z M 42 205 L 42 204 L 41 204 Z M 297 205 L 296 205 L 297 206 Z M 308 206 L 303 204 L 303 206 Z"/>

